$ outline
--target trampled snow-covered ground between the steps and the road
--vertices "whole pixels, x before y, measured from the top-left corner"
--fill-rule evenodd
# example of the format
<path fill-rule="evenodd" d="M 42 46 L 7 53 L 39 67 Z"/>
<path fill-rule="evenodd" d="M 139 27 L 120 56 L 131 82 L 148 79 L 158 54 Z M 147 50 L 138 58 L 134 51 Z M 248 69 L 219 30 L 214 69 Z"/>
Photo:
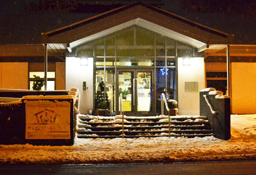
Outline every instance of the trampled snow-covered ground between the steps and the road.
<path fill-rule="evenodd" d="M 231 139 L 75 139 L 73 146 L 0 145 L 0 164 L 81 164 L 256 159 L 256 114 L 231 115 Z"/>

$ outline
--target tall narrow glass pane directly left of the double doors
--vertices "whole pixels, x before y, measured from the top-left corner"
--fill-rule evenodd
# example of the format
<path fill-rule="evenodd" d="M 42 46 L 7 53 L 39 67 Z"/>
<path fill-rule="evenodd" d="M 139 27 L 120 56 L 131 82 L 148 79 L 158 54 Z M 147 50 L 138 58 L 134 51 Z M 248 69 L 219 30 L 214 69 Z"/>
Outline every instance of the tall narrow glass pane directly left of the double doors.
<path fill-rule="evenodd" d="M 115 109 L 115 68 L 106 68 L 106 98 L 112 100 L 112 112 Z"/>

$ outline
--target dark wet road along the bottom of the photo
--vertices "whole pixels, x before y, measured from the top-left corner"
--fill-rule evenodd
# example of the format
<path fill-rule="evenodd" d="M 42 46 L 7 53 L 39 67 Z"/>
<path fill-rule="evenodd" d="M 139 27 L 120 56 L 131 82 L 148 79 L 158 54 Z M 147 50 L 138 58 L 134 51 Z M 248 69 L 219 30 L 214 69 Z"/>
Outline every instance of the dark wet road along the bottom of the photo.
<path fill-rule="evenodd" d="M 0 174 L 256 174 L 256 161 L 170 164 L 1 165 Z"/>

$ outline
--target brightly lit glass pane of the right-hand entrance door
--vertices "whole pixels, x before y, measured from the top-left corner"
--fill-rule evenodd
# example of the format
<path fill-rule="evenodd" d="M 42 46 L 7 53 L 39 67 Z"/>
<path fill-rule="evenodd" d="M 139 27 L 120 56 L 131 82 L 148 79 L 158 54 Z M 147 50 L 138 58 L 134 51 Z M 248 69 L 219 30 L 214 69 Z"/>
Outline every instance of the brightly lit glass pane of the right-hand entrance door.
<path fill-rule="evenodd" d="M 137 111 L 149 112 L 152 101 L 151 72 L 137 73 L 137 94 Z"/>

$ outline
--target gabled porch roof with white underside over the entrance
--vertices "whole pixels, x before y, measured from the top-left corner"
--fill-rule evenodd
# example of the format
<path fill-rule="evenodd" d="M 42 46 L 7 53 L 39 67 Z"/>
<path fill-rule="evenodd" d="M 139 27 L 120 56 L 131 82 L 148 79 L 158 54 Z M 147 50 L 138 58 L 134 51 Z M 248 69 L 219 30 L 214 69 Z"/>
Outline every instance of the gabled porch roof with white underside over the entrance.
<path fill-rule="evenodd" d="M 206 44 L 231 44 L 226 34 L 171 12 L 142 3 L 124 5 L 80 22 L 42 33 L 42 43 L 70 43 L 71 47 L 110 34 L 131 25 L 138 25 L 196 48 Z"/>

